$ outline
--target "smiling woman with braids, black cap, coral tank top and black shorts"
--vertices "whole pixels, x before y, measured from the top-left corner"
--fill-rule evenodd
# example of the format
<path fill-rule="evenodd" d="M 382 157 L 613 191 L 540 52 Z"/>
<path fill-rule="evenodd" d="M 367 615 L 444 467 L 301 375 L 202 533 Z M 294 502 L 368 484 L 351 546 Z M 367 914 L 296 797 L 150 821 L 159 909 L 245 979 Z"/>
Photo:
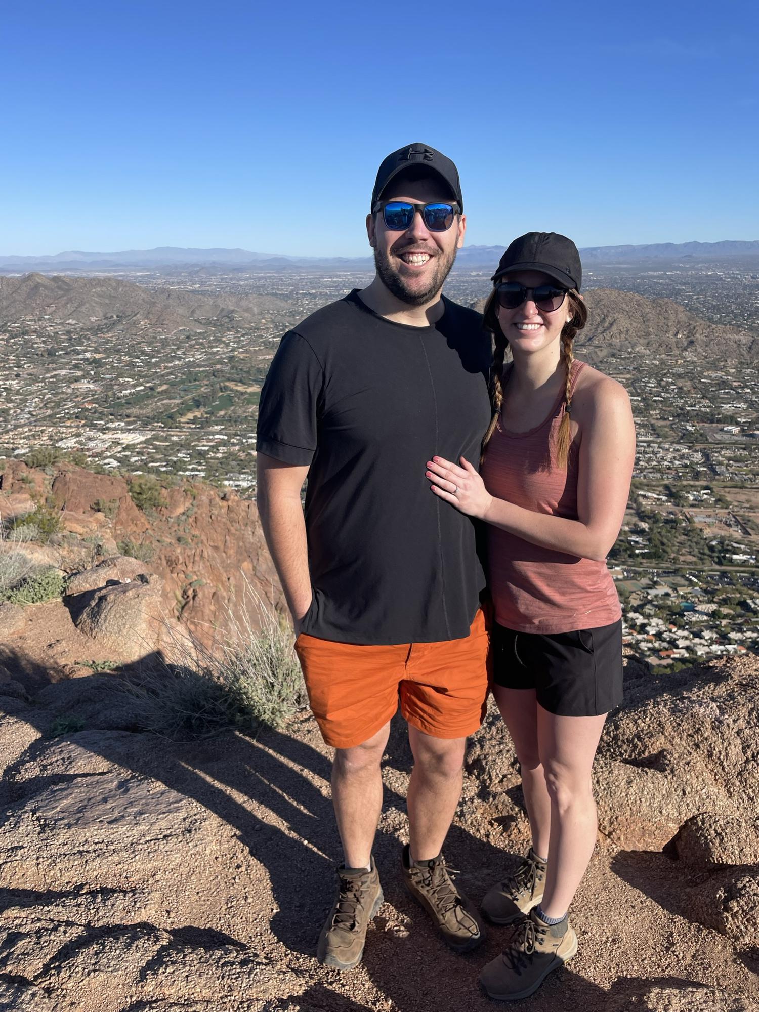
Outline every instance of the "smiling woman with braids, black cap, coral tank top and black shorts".
<path fill-rule="evenodd" d="M 485 307 L 495 336 L 482 477 L 433 457 L 445 502 L 488 524 L 493 693 L 521 769 L 532 846 L 483 911 L 513 928 L 484 968 L 492 998 L 532 994 L 577 950 L 567 912 L 596 840 L 591 767 L 621 693 L 621 612 L 605 559 L 635 459 L 624 389 L 575 359 L 585 326 L 574 243 L 531 232 L 506 250 Z M 512 361 L 504 366 L 507 347 Z"/>

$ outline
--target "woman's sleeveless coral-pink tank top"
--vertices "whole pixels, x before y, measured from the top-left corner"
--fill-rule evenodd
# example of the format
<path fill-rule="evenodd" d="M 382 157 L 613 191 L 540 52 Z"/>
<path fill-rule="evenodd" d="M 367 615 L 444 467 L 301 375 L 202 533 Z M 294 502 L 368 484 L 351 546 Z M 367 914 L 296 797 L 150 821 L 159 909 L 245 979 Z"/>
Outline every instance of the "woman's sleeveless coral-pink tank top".
<path fill-rule="evenodd" d="M 584 366 L 573 365 L 572 393 Z M 482 467 L 492 495 L 535 513 L 578 519 L 577 440 L 568 467 L 556 461 L 564 411 L 562 394 L 545 421 L 529 432 L 509 432 L 499 420 Z M 605 562 L 541 549 L 492 524 L 487 530 L 490 586 L 500 625 L 517 632 L 569 632 L 609 625 L 621 616 Z"/>

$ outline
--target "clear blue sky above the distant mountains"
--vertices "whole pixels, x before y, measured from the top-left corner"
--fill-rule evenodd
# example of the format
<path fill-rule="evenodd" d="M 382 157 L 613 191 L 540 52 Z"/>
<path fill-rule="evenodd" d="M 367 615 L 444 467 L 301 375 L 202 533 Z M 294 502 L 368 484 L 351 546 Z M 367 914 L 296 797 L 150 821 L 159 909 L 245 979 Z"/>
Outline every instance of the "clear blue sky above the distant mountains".
<path fill-rule="evenodd" d="M 413 141 L 458 165 L 470 244 L 759 239 L 754 0 L 0 10 L 0 253 L 364 255 Z"/>

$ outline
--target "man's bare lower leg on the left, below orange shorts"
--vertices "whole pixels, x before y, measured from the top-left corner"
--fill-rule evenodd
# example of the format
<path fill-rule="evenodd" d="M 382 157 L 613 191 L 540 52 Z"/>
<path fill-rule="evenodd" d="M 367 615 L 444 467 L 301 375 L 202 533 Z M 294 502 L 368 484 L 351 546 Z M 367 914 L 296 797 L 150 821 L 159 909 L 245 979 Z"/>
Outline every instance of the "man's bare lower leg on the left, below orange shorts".
<path fill-rule="evenodd" d="M 383 808 L 380 769 L 390 737 L 390 722 L 361 745 L 336 749 L 332 764 L 332 804 L 343 844 L 345 865 L 368 868 Z"/>

